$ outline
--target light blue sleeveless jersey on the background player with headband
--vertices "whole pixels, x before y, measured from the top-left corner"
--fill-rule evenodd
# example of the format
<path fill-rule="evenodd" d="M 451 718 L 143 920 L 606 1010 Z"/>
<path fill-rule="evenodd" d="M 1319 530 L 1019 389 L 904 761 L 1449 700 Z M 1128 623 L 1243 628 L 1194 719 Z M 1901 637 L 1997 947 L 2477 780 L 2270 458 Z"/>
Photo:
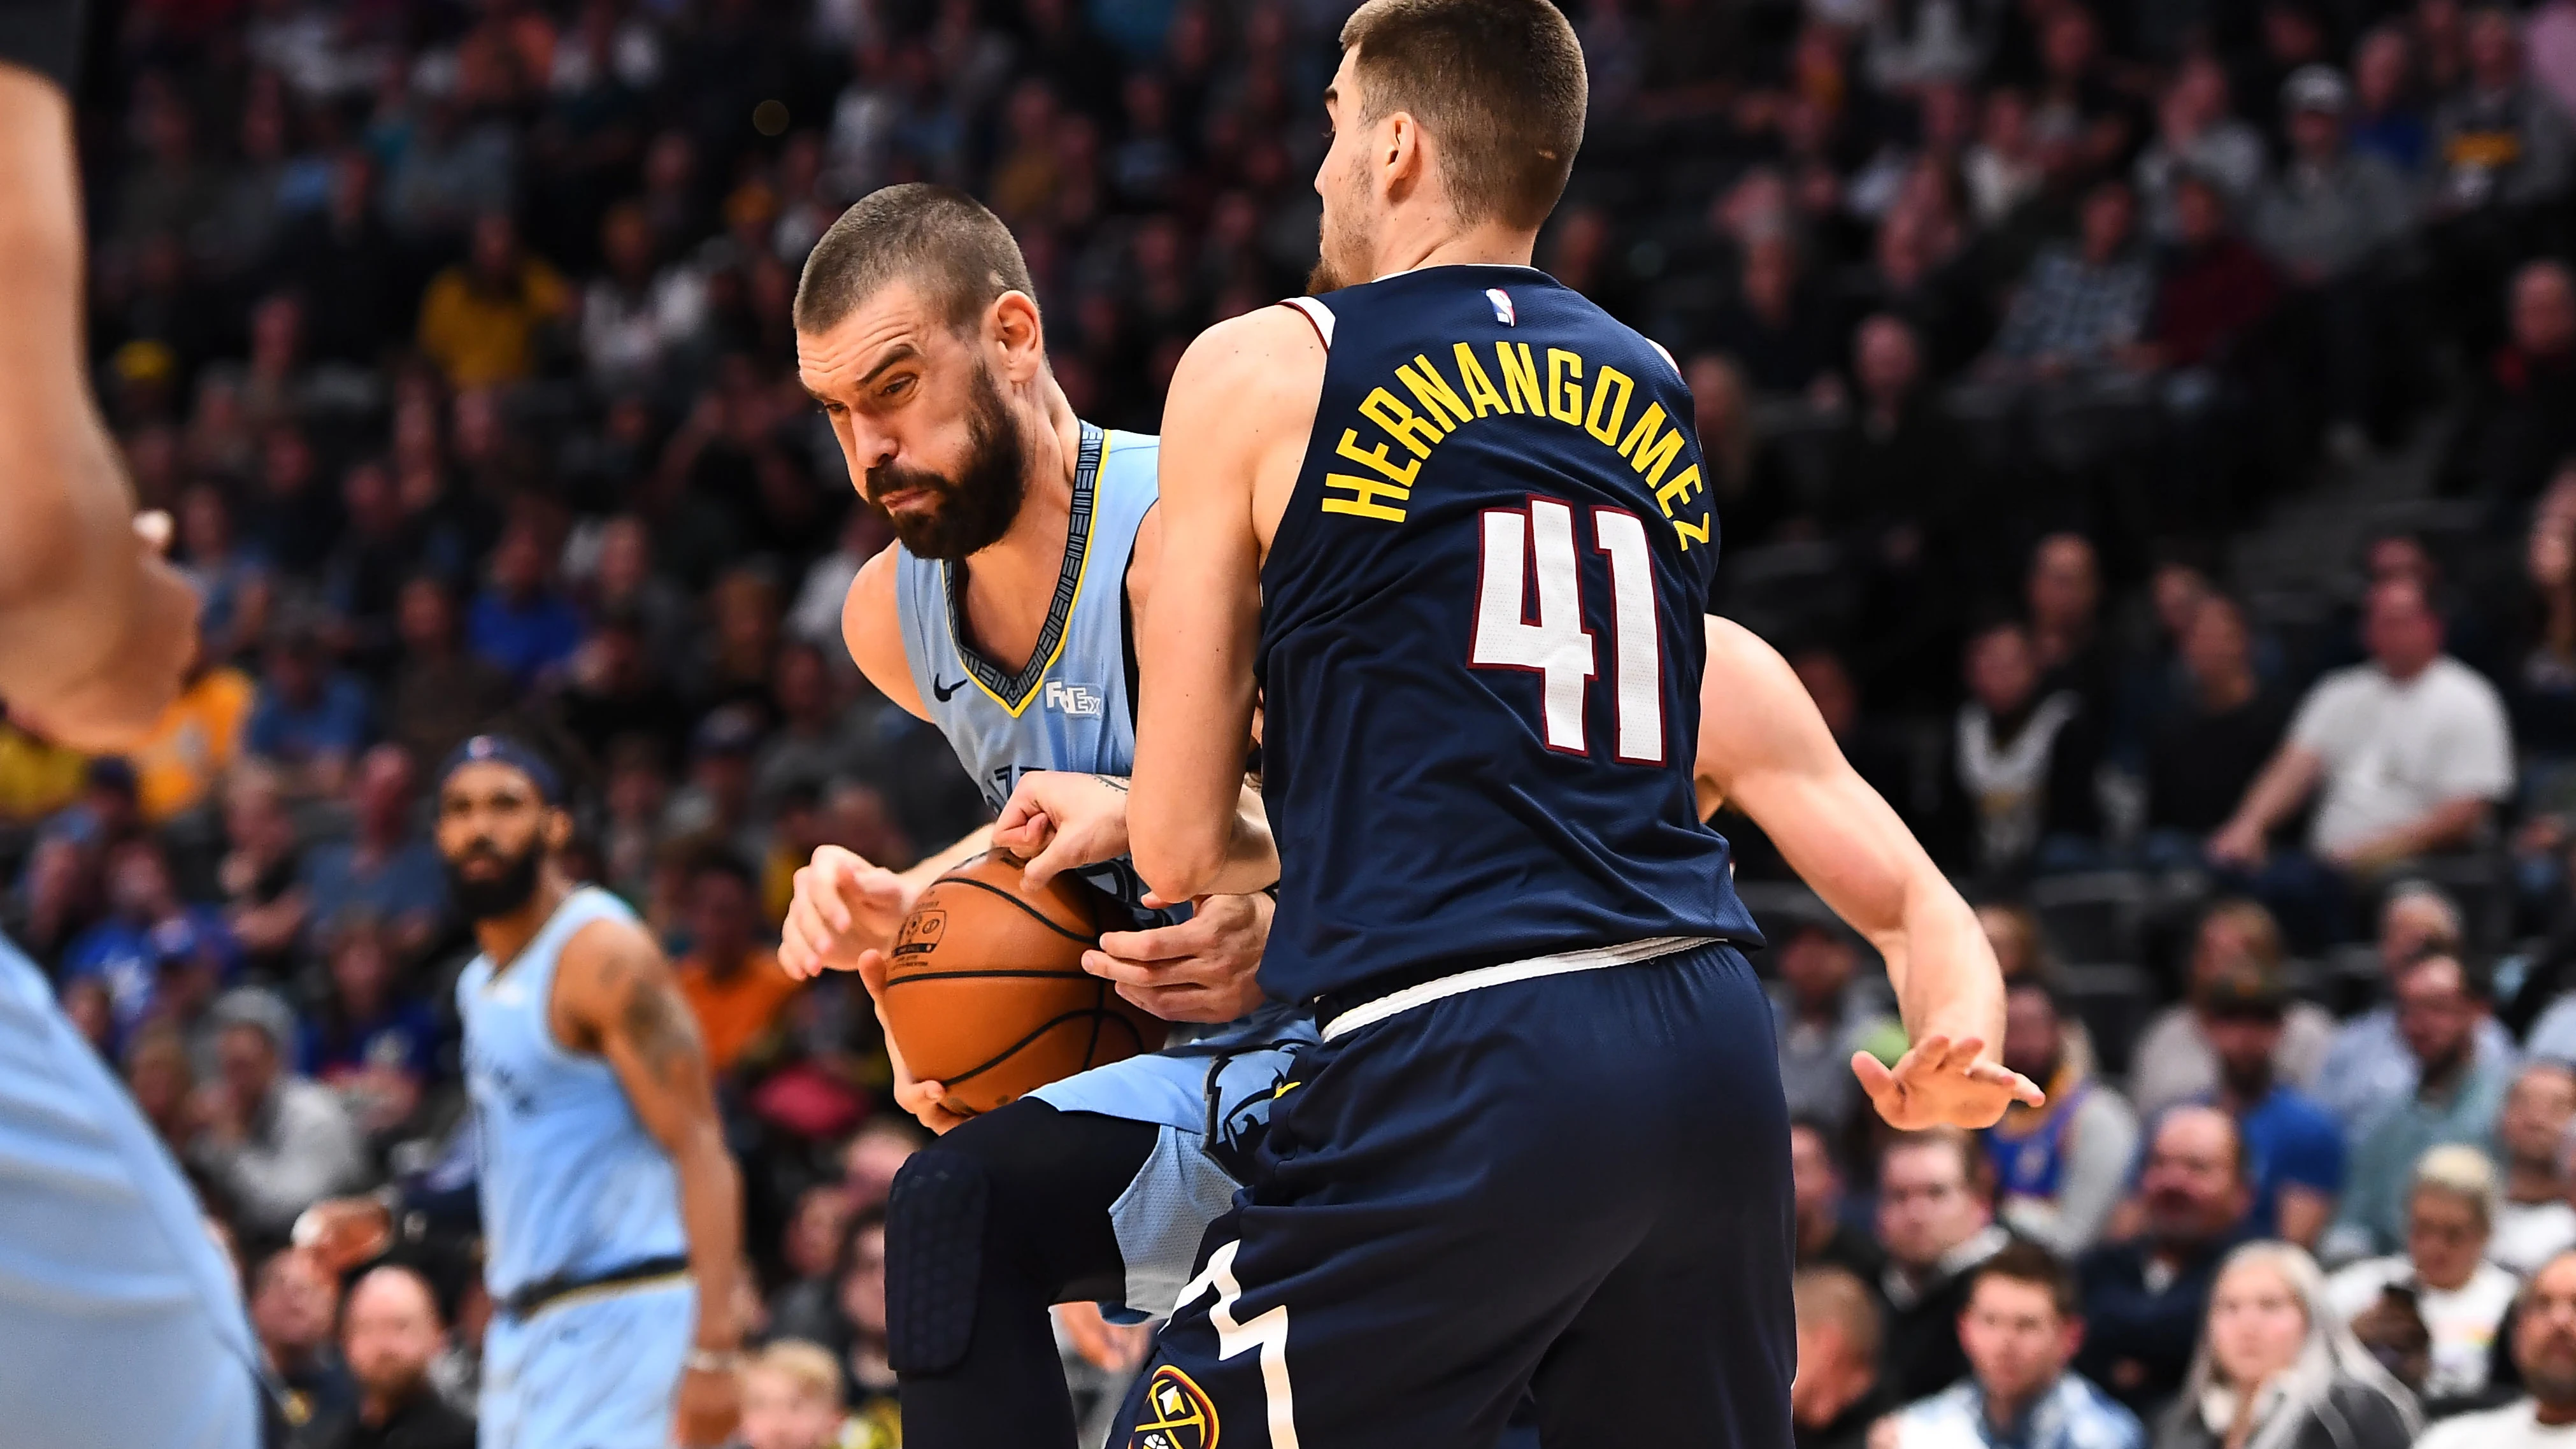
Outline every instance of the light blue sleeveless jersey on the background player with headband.
<path fill-rule="evenodd" d="M 582 885 L 507 970 L 477 955 L 456 981 L 495 1300 L 688 1253 L 670 1153 L 608 1063 L 567 1050 L 549 1022 L 554 968 L 574 932 L 634 919 L 608 891 Z"/>

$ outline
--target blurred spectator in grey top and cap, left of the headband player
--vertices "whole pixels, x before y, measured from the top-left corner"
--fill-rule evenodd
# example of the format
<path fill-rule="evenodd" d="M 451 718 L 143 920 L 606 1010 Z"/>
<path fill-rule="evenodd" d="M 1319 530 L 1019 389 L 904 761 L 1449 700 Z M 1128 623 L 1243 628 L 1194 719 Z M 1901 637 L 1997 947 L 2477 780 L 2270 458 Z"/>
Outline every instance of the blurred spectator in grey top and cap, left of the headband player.
<path fill-rule="evenodd" d="M 286 1071 L 296 1017 L 255 986 L 214 1004 L 219 1078 L 198 1089 L 191 1161 L 245 1233 L 283 1241 L 296 1215 L 366 1184 L 366 1143 L 340 1099 Z"/>

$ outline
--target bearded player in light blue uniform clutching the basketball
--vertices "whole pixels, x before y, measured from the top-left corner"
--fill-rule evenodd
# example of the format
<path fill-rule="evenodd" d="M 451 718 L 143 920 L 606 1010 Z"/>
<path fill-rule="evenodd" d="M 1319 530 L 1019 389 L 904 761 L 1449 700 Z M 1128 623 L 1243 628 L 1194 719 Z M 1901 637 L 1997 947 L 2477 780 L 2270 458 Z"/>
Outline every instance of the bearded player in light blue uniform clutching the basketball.
<path fill-rule="evenodd" d="M 896 185 L 817 242 L 796 299 L 804 381 L 899 538 L 850 587 L 850 656 L 948 736 L 994 808 L 1030 772 L 1108 777 L 1095 788 L 1113 793 L 1133 770 L 1128 620 L 1159 607 L 1157 440 L 1074 417 L 1030 296 L 1018 245 L 984 206 Z M 881 988 L 876 952 L 912 898 L 987 836 L 904 875 L 817 852 L 781 963 L 860 970 Z M 945 1132 L 896 1179 L 886 1225 L 889 1356 L 912 1449 L 1074 1441 L 1046 1307 L 1170 1313 L 1236 1189 L 1218 1158 L 1267 1117 L 1283 1045 L 1314 1037 L 1252 988 L 1265 896 L 1164 911 L 1121 860 L 1084 875 L 1141 927 L 1105 934 L 1084 965 L 1149 1011 L 1216 1029 L 971 1122 L 896 1055 L 896 1099 Z"/>

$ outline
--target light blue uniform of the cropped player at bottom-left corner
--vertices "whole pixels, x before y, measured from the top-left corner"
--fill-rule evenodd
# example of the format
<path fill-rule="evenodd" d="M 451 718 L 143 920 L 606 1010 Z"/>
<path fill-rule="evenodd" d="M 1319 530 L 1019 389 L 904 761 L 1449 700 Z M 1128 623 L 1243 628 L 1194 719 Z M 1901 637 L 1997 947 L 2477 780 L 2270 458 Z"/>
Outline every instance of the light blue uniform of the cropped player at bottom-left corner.
<path fill-rule="evenodd" d="M 0 1441 L 252 1449 L 258 1361 L 178 1163 L 0 942 Z"/>

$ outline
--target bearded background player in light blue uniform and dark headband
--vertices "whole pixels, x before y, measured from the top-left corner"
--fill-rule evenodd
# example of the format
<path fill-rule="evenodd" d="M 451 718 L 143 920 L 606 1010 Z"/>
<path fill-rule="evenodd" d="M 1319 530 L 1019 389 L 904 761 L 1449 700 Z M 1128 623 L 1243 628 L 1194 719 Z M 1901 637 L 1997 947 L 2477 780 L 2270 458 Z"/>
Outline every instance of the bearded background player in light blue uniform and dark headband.
<path fill-rule="evenodd" d="M 484 1449 L 662 1449 L 734 1428 L 742 1181 L 698 1027 L 623 901 L 554 862 L 554 770 L 456 749 L 438 854 L 482 955 L 456 981 L 482 1153 Z"/>

